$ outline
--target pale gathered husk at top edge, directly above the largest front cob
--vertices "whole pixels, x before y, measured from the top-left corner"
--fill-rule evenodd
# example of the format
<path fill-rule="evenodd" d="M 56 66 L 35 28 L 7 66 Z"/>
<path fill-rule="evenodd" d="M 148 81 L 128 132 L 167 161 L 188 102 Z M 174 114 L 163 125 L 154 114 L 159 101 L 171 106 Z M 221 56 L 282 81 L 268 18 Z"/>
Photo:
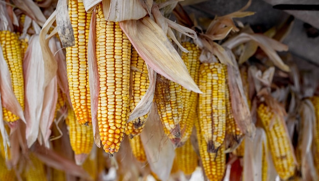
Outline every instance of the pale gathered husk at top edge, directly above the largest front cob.
<path fill-rule="evenodd" d="M 125 21 L 146 16 L 145 5 L 140 0 L 103 0 L 103 14 L 107 21 Z"/>

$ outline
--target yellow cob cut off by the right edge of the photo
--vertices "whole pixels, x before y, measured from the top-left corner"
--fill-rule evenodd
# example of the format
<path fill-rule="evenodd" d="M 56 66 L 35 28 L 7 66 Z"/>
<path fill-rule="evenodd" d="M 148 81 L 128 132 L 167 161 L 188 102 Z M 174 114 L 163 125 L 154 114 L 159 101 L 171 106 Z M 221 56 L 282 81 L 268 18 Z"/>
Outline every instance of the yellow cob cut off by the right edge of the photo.
<path fill-rule="evenodd" d="M 313 161 L 314 166 L 316 168 L 317 175 L 319 175 L 319 96 L 311 97 L 311 102 L 314 107 L 315 112 L 315 132 L 313 134 L 313 145 L 314 145 L 314 152 L 313 152 Z"/>

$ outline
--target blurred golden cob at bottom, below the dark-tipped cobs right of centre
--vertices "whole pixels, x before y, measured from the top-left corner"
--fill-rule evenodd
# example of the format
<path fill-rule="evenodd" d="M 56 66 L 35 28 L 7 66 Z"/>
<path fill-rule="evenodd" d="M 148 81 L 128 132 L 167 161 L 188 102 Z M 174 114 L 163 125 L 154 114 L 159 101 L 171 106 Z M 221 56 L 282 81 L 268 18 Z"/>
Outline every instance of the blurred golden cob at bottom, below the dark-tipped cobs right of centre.
<path fill-rule="evenodd" d="M 191 139 L 188 139 L 185 144 L 175 149 L 175 159 L 177 167 L 184 172 L 185 175 L 190 175 L 197 167 L 197 154 L 193 149 Z"/>

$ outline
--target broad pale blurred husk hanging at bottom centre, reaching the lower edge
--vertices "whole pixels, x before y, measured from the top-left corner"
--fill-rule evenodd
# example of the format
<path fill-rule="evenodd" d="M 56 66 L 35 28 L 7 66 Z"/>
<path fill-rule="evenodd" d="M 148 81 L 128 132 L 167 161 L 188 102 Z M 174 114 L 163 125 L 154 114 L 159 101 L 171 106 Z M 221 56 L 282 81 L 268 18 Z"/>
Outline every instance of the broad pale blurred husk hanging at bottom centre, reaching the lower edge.
<path fill-rule="evenodd" d="M 159 179 L 167 180 L 175 157 L 174 145 L 163 132 L 162 123 L 154 106 L 141 133 L 141 140 L 151 171 Z"/>

